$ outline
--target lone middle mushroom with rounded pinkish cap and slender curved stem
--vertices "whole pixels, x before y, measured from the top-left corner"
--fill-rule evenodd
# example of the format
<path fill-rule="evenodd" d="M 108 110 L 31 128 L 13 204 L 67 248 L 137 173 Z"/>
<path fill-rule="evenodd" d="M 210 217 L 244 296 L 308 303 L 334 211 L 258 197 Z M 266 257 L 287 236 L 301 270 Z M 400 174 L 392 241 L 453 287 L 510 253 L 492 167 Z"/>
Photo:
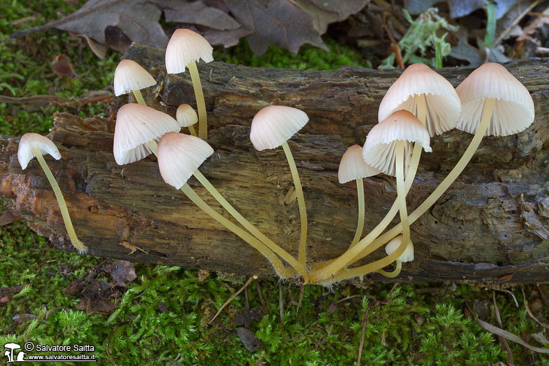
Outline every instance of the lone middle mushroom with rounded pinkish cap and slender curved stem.
<path fill-rule="evenodd" d="M 250 140 L 253 146 L 261 151 L 282 146 L 292 179 L 296 188 L 299 216 L 301 218 L 301 238 L 299 240 L 299 262 L 305 266 L 305 243 L 307 242 L 307 211 L 303 188 L 299 180 L 296 163 L 288 146 L 288 139 L 301 130 L 309 121 L 309 117 L 303 111 L 290 106 L 266 106 L 262 108 L 252 120 Z"/>

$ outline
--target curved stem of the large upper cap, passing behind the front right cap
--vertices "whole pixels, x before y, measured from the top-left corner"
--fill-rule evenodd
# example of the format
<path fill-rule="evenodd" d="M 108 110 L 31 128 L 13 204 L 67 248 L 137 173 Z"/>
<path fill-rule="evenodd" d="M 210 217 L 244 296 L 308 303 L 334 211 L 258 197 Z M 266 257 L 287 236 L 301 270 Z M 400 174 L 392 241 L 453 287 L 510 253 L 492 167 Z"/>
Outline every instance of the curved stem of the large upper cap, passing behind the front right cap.
<path fill-rule="evenodd" d="M 412 159 L 410 161 L 410 167 L 408 168 L 408 173 L 406 174 L 406 181 L 404 184 L 404 191 L 406 194 L 408 194 L 408 191 L 410 191 L 410 187 L 412 186 L 412 182 L 414 181 L 420 157 L 421 146 L 419 144 L 414 144 L 414 152 L 412 152 Z M 381 234 L 382 231 L 384 231 L 386 227 L 388 227 L 393 218 L 395 218 L 395 215 L 399 210 L 399 204 L 397 201 L 395 201 L 395 203 L 393 203 L 393 206 L 390 207 L 388 213 L 383 218 L 383 220 L 379 222 L 379 224 L 377 224 L 377 226 L 372 231 L 370 231 L 368 235 L 362 238 L 362 240 L 360 240 L 354 247 L 347 249 L 345 253 L 340 255 L 340 257 L 336 258 L 335 260 L 321 263 L 320 265 L 323 265 L 322 267 L 316 267 L 317 269 L 309 275 L 309 278 L 313 281 L 312 283 L 322 281 L 323 279 L 334 275 L 334 273 L 336 273 L 337 271 L 340 271 L 341 268 L 344 268 L 345 266 L 356 262 L 360 258 L 363 258 L 364 255 L 362 254 L 364 253 L 364 251 L 370 249 L 371 243 L 375 240 L 375 238 L 377 238 L 377 236 L 379 236 L 379 234 Z M 399 232 L 401 230 L 402 229 L 399 229 Z M 396 235 L 397 234 L 393 235 L 391 238 L 394 238 Z M 379 245 L 377 248 L 379 247 L 381 247 L 381 245 Z M 404 247 L 404 249 L 406 249 L 406 247 Z M 371 253 L 371 251 L 369 251 L 368 253 Z M 393 257 L 393 254 L 390 254 L 386 258 L 390 257 L 393 258 L 393 261 L 396 260 L 398 258 L 398 255 L 396 257 Z M 384 264 L 384 266 L 388 266 L 388 264 L 392 263 L 393 261 Z M 384 266 L 381 266 L 379 268 L 383 268 Z"/>

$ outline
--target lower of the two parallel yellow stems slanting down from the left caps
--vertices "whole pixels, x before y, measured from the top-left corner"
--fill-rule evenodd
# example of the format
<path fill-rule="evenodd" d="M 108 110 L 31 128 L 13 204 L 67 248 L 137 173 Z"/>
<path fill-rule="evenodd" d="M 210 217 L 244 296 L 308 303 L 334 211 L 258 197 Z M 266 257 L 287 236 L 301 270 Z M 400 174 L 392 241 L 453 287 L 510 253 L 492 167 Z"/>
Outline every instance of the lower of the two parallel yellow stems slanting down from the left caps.
<path fill-rule="evenodd" d="M 239 238 L 250 244 L 252 247 L 257 249 L 259 253 L 263 254 L 268 261 L 272 264 L 274 267 L 274 271 L 277 271 L 277 275 L 279 277 L 286 279 L 289 277 L 292 277 L 294 275 L 294 271 L 292 268 L 286 268 L 282 261 L 278 258 L 276 254 L 274 254 L 268 247 L 266 247 L 265 244 L 257 240 L 257 238 L 251 236 L 249 233 L 244 231 L 242 228 L 237 227 L 237 225 L 233 224 L 233 222 L 227 220 L 224 218 L 224 216 L 218 214 L 217 211 L 215 211 L 213 208 L 211 208 L 207 203 L 205 203 L 194 190 L 189 187 L 187 183 L 183 185 L 183 187 L 180 188 L 180 190 L 185 193 L 185 195 L 202 211 L 205 211 L 206 214 L 208 214 L 211 218 L 218 221 L 221 225 L 229 229 L 230 231 L 233 231 Z"/>

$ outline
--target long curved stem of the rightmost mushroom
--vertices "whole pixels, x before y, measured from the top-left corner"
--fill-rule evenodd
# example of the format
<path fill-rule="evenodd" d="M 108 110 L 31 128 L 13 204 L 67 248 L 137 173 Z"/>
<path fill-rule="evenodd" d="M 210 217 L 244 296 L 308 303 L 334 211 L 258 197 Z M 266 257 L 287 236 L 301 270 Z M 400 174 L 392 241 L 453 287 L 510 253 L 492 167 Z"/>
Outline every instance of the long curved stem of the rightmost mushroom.
<path fill-rule="evenodd" d="M 415 209 L 410 214 L 410 216 L 408 216 L 408 220 L 410 221 L 410 224 L 412 224 L 415 220 L 420 218 L 421 215 L 425 214 L 425 212 L 428 209 L 430 209 L 430 207 L 436 202 L 436 200 L 438 200 L 442 196 L 442 194 L 448 189 L 448 187 L 452 183 L 454 183 L 458 175 L 461 172 L 463 172 L 463 169 L 465 169 L 465 166 L 467 165 L 467 163 L 469 163 L 476 149 L 480 145 L 480 141 L 482 141 L 482 137 L 484 136 L 484 133 L 486 133 L 486 130 L 490 124 L 494 106 L 495 106 L 495 99 L 487 98 L 485 100 L 484 108 L 482 111 L 482 119 L 480 119 L 480 124 L 476 130 L 476 133 L 473 139 L 471 140 L 471 143 L 467 147 L 467 150 L 465 150 L 461 159 L 459 159 L 456 166 L 454 166 L 452 171 L 448 173 L 448 175 L 441 182 L 441 184 L 438 187 L 436 187 L 436 189 L 432 192 L 432 194 L 430 194 L 430 196 L 428 196 L 428 198 L 425 199 L 425 201 L 423 201 L 423 203 L 421 203 L 421 205 L 419 205 L 419 207 L 417 207 L 417 209 Z M 366 255 L 369 255 L 369 253 L 372 253 L 373 251 L 375 251 L 375 249 L 381 247 L 383 244 L 385 244 L 389 240 L 395 238 L 395 236 L 397 236 L 401 230 L 402 230 L 402 223 L 395 225 L 395 227 L 393 227 L 392 229 L 384 233 L 379 238 L 375 239 L 371 243 L 371 245 L 369 245 L 368 248 L 366 248 L 362 253 L 360 253 L 360 258 L 363 258 Z M 385 258 L 383 258 L 382 260 L 384 259 Z M 379 261 L 382 261 L 382 260 L 379 260 Z M 345 270 L 345 273 L 343 273 L 344 271 L 341 271 L 341 273 L 334 275 L 334 277 L 332 277 L 331 279 L 333 279 L 334 281 L 341 281 L 342 279 L 358 277 L 358 276 L 364 275 L 365 273 L 371 272 L 372 270 L 370 268 L 373 265 L 375 265 L 375 262 L 371 264 L 366 264 L 366 266 L 360 266 L 360 267 L 351 268 L 350 270 Z"/>

